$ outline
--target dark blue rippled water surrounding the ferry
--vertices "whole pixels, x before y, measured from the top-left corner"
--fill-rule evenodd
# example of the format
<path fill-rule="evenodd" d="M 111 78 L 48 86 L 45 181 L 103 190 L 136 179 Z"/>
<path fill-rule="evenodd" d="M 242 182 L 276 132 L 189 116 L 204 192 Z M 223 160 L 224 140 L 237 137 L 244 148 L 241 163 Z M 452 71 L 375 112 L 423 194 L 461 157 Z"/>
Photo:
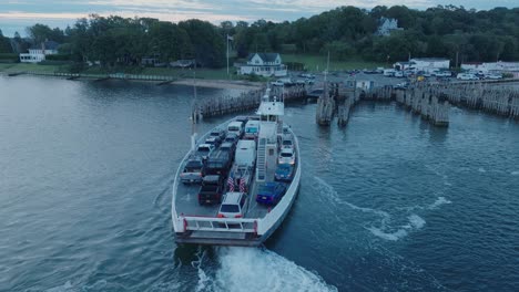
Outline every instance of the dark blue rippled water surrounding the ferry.
<path fill-rule="evenodd" d="M 176 247 L 171 184 L 191 98 L 0 76 L 0 291 L 519 288 L 518 123 L 452 108 L 434 128 L 366 103 L 346 128 L 319 128 L 315 105 L 292 105 L 302 188 L 266 249 Z"/>

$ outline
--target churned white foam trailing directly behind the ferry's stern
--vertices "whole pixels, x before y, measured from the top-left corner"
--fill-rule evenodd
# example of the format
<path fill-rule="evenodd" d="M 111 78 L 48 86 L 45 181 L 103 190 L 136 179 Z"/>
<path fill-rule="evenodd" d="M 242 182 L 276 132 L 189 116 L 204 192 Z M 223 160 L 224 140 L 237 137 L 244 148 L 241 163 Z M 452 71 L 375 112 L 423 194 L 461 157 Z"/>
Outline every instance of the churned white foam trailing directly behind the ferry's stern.
<path fill-rule="evenodd" d="M 316 273 L 268 250 L 218 248 L 210 291 L 337 291 Z"/>

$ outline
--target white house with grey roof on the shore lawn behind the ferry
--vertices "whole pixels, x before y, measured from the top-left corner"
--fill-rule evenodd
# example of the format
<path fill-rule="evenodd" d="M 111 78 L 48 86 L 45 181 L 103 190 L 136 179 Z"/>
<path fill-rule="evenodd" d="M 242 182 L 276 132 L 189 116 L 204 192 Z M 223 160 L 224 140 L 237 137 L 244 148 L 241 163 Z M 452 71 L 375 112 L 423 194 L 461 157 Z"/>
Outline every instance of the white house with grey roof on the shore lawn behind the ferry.
<path fill-rule="evenodd" d="M 261 76 L 286 76 L 286 65 L 282 64 L 278 53 L 254 53 L 247 58 L 247 64 L 240 67 L 240 74 Z"/>

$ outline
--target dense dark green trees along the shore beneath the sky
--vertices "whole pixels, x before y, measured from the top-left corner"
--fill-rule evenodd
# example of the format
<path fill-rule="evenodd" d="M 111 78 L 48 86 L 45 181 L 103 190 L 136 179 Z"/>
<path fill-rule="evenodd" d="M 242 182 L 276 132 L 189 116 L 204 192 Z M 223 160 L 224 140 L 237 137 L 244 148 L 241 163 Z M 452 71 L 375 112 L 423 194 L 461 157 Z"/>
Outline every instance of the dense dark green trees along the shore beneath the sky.
<path fill-rule="evenodd" d="M 396 19 L 403 30 L 377 35 L 381 18 Z M 519 8 L 477 11 L 456 6 L 426 10 L 405 6 L 377 6 L 370 10 L 339 7 L 292 22 L 224 21 L 220 25 L 195 19 L 172 23 L 92 14 L 65 30 L 35 24 L 28 28 L 28 34 L 34 43 L 62 43 L 60 51 L 73 61 L 100 61 L 103 66 L 136 65 L 142 58 L 153 56 L 161 62 L 195 59 L 200 65 L 220 67 L 225 64 L 226 35 L 234 36 L 232 46 L 238 58 L 253 52 L 329 52 L 336 60 L 383 62 L 404 61 L 409 55 L 459 62 L 517 61 Z M 4 39 L 0 35 L 0 50 L 7 50 Z M 23 40 L 14 43 L 24 48 Z"/>

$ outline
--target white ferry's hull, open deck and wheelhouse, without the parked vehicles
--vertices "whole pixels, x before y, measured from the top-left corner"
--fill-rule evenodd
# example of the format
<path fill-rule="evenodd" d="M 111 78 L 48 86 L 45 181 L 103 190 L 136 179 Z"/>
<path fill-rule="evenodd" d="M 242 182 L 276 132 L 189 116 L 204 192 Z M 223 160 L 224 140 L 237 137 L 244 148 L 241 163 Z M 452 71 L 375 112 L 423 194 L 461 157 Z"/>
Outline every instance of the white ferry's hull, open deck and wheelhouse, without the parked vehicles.
<path fill-rule="evenodd" d="M 267 90 L 256 112 L 256 115 L 260 117 L 260 132 L 256 138 L 257 143 L 255 144 L 255 161 L 253 161 L 252 167 L 250 166 L 248 176 L 252 176 L 252 179 L 248 179 L 248 181 L 238 179 L 236 181 L 236 177 L 232 175 L 232 171 L 234 171 L 232 169 L 240 169 L 241 166 L 237 165 L 231 166 L 228 175 L 225 175 L 223 179 L 225 181 L 225 190 L 223 191 L 224 205 L 231 197 L 235 200 L 236 191 L 234 189 L 238 189 L 238 186 L 240 190 L 237 192 L 242 191 L 242 194 L 245 194 L 243 196 L 245 198 L 242 208 L 243 215 L 236 216 L 238 218 L 223 217 L 226 213 L 220 212 L 222 200 L 213 205 L 201 205 L 197 198 L 201 188 L 200 184 L 181 182 L 180 176 L 185 170 L 184 167 L 190 157 L 192 158 L 195 155 L 194 149 L 196 147 L 192 145 L 192 149 L 179 165 L 173 182 L 172 220 L 176 242 L 217 246 L 260 246 L 279 227 L 291 210 L 296 199 L 301 180 L 299 144 L 292 128 L 283 125 L 283 98 L 271 96 L 269 93 L 269 90 Z M 236 121 L 237 117 L 218 125 L 214 129 L 226 131 L 227 125 Z M 203 135 L 197 143 L 204 143 L 210 133 Z M 283 148 L 282 142 L 284 138 L 292 139 L 295 159 L 289 167 L 293 170 L 291 179 L 284 179 L 283 182 L 279 182 L 275 181 L 275 171 L 278 166 L 278 155 Z M 203 173 L 201 171 L 201 175 Z M 243 167 L 240 176 L 243 176 Z M 237 184 L 234 188 L 235 182 Z M 246 186 L 244 186 L 245 184 Z M 283 185 L 279 186 L 279 184 Z M 257 197 L 257 194 L 265 186 L 272 185 L 281 189 L 285 187 L 285 192 L 281 199 L 275 199 L 276 204 L 265 205 L 262 198 L 265 199 L 266 197 Z"/>

